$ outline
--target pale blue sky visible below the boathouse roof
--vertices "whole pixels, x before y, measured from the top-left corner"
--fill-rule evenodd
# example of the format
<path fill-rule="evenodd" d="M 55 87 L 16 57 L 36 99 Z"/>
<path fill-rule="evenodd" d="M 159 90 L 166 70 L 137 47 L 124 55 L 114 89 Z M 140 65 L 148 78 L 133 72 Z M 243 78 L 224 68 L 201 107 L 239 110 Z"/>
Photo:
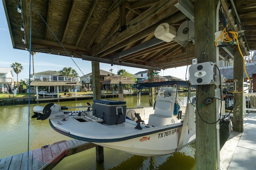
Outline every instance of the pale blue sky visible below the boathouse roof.
<path fill-rule="evenodd" d="M 4 6 L 2 2 L 0 2 L 0 67 L 10 67 L 12 63 L 20 63 L 23 66 L 23 70 L 18 74 L 18 79 L 24 80 L 25 78 L 29 78 L 29 75 L 33 73 L 32 70 L 32 57 L 30 61 L 30 54 L 26 50 L 14 49 L 12 47 L 12 41 L 10 37 L 10 31 L 8 28 L 6 15 L 4 12 Z M 21 38 L 20 38 L 21 41 Z M 74 60 L 74 63 L 72 61 Z M 43 72 L 47 70 L 52 71 L 60 71 L 64 67 L 72 67 L 76 72 L 78 72 L 79 76 L 86 75 L 92 72 L 92 64 L 91 61 L 85 61 L 82 59 L 53 55 L 47 53 L 36 53 L 34 55 L 34 68 L 35 72 Z M 30 64 L 31 63 L 31 64 Z M 77 66 L 76 66 L 77 65 Z M 80 69 L 79 69 L 79 68 Z M 113 69 L 113 73 L 117 74 L 118 70 L 125 69 L 127 72 L 131 74 L 136 74 L 137 72 L 144 71 L 146 69 L 134 68 L 134 67 L 126 67 L 120 65 L 113 65 L 100 63 L 100 69 L 109 71 Z M 81 71 L 80 71 L 81 70 Z M 177 67 L 177 68 L 169 68 L 166 70 L 161 70 L 160 76 L 174 76 L 185 80 L 186 78 L 186 66 Z M 17 75 L 14 73 L 14 80 L 16 81 Z M 188 76 L 187 76 L 188 79 Z"/>

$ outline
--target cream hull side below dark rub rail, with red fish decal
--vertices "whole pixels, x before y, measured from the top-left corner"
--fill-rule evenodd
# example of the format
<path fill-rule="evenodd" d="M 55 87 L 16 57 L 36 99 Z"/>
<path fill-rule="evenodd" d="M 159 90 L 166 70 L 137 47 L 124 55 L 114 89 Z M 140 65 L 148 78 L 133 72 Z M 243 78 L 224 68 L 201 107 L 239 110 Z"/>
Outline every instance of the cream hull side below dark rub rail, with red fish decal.
<path fill-rule="evenodd" d="M 177 151 L 178 139 L 180 134 L 177 131 L 181 131 L 182 127 L 170 129 L 167 131 L 160 131 L 151 135 L 145 135 L 143 137 L 137 137 L 121 142 L 113 143 L 95 143 L 102 147 L 122 150 L 130 154 L 140 156 L 161 156 L 171 154 Z M 184 141 L 182 148 L 192 143 L 195 139 L 195 133 L 191 134 Z M 143 139 L 148 139 L 142 141 Z M 167 138 L 167 139 L 166 139 Z"/>

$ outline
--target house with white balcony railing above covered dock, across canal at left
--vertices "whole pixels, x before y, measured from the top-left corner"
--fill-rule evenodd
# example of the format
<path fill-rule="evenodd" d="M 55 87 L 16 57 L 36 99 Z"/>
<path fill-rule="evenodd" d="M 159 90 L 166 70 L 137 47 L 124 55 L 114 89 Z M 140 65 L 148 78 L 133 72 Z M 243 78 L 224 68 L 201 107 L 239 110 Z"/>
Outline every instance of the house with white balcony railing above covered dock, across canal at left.
<path fill-rule="evenodd" d="M 69 89 L 72 89 L 71 91 L 75 91 L 75 89 L 79 91 L 80 86 L 82 86 L 79 82 L 79 77 L 61 76 L 58 71 L 38 72 L 35 76 L 30 74 L 30 78 L 32 80 L 30 86 L 36 87 L 37 98 L 38 91 L 56 92 L 59 98 L 60 92 L 68 92 Z"/>

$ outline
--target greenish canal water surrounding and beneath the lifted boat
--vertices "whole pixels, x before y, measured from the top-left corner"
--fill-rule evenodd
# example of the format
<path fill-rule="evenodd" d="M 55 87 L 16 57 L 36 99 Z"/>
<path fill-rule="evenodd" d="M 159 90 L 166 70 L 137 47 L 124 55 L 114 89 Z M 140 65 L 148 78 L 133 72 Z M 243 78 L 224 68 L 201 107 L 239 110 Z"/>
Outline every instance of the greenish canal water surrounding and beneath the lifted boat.
<path fill-rule="evenodd" d="M 179 94 L 183 96 L 183 94 Z M 108 98 L 118 100 L 118 98 Z M 125 97 L 127 107 L 137 106 L 137 96 Z M 181 100 L 183 100 L 181 98 Z M 186 100 L 186 99 L 185 99 Z M 60 102 L 60 106 L 84 106 L 92 100 Z M 149 106 L 148 96 L 141 96 L 141 106 Z M 31 104 L 30 117 L 33 107 L 44 104 Z M 28 105 L 0 106 L 0 158 L 26 152 L 28 149 Z M 38 121 L 30 118 L 29 150 L 51 145 L 58 141 L 71 140 L 54 131 L 47 120 Z M 170 141 L 171 142 L 171 141 Z M 184 163 L 186 162 L 186 163 Z M 95 148 L 89 149 L 64 158 L 54 169 L 196 169 L 195 143 L 166 156 L 136 156 L 123 151 L 104 148 L 104 161 L 96 162 Z"/>

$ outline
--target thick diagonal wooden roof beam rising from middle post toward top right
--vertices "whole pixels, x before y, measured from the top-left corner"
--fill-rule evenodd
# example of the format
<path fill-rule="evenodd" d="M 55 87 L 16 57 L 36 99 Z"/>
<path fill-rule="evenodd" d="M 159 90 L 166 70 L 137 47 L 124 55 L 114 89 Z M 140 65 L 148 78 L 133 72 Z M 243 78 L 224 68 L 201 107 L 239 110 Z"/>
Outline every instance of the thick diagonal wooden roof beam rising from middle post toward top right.
<path fill-rule="evenodd" d="M 125 41 L 126 39 L 132 37 L 136 33 L 143 31 L 147 27 L 154 25 L 155 23 L 171 16 L 175 12 L 178 12 L 178 9 L 174 6 L 177 0 L 173 1 L 159 1 L 157 4 L 146 10 L 140 16 L 130 21 L 130 25 L 122 33 L 116 33 L 115 35 L 110 35 L 104 39 L 101 43 L 95 45 L 90 50 L 92 55 L 97 55 L 103 51 L 117 45 L 118 43 Z M 158 9 L 156 11 L 156 9 Z M 145 20 L 147 19 L 147 20 Z M 112 39 L 112 41 L 110 41 Z"/>

